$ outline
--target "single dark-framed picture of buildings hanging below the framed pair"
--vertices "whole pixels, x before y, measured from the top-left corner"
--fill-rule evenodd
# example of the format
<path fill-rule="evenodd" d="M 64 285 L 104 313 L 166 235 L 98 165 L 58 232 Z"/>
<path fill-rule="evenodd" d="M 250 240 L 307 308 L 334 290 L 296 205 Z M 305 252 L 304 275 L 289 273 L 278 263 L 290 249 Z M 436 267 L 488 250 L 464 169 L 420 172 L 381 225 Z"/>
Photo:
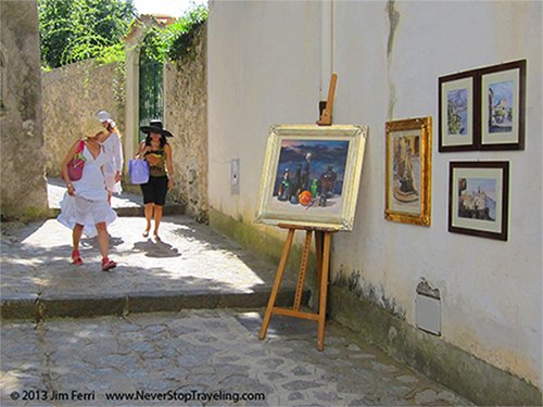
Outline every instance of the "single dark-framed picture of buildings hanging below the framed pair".
<path fill-rule="evenodd" d="M 449 231 L 507 240 L 508 162 L 451 162 Z"/>

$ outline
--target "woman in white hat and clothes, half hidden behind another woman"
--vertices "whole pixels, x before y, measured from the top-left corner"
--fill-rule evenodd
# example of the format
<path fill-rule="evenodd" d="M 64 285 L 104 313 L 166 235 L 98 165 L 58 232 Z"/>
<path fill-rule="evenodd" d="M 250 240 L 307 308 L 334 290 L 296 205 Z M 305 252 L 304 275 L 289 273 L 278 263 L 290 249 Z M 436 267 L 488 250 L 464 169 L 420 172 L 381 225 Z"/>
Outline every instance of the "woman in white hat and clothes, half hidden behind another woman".
<path fill-rule="evenodd" d="M 103 145 L 108 162 L 103 167 L 105 187 L 108 188 L 108 202 L 111 205 L 111 196 L 123 191 L 121 187 L 121 174 L 123 173 L 123 145 L 121 143 L 121 133 L 113 122 L 111 115 L 105 111 L 97 114 L 98 119 L 104 127 L 104 131 L 99 142 Z"/>

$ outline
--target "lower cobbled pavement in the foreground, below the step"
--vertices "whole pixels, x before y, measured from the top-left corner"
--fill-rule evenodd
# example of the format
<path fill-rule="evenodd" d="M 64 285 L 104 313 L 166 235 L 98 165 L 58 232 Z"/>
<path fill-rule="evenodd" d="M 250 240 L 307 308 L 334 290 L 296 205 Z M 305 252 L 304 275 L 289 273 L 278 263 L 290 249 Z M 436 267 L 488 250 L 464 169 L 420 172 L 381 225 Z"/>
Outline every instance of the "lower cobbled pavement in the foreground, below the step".
<path fill-rule="evenodd" d="M 471 405 L 333 322 L 327 325 L 324 352 L 316 349 L 312 321 L 274 316 L 260 341 L 262 314 L 184 310 L 4 321 L 1 405 Z M 111 393 L 140 398 L 109 400 Z M 251 399 L 235 403 L 238 397 Z"/>

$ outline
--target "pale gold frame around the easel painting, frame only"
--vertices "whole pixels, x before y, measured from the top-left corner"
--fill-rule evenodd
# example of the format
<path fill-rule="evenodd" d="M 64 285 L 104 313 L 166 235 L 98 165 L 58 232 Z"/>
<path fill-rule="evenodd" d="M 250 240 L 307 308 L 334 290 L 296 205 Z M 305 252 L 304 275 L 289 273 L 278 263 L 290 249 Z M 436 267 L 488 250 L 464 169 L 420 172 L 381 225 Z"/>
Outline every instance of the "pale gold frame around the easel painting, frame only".
<path fill-rule="evenodd" d="M 358 187 L 361 183 L 364 147 L 367 126 L 354 125 L 277 125 L 272 126 L 264 169 L 262 174 L 258 209 L 255 218 L 257 224 L 298 225 L 333 230 L 352 230 Z M 278 203 L 274 195 L 278 176 L 281 143 L 283 140 L 294 142 L 334 142 L 346 141 L 349 148 L 345 154 L 345 168 L 342 179 L 341 201 L 334 207 L 307 207 Z"/>

